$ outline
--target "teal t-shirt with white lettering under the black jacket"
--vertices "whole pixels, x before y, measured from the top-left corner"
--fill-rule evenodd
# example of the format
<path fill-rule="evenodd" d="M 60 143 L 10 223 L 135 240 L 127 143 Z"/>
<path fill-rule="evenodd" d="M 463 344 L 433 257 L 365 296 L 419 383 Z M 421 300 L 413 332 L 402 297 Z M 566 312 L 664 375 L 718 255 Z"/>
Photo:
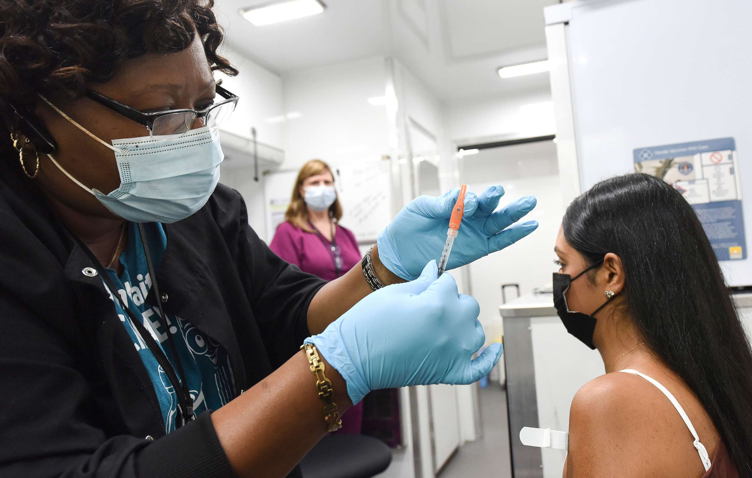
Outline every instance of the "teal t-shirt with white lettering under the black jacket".
<path fill-rule="evenodd" d="M 162 224 L 144 224 L 147 232 L 149 251 L 155 270 L 165 255 L 167 237 L 162 229 Z M 113 269 L 107 269 L 110 279 L 117 287 L 120 300 L 127 302 L 135 315 L 143 319 L 144 327 L 149 330 L 156 343 L 162 348 L 162 352 L 173 365 L 175 373 L 180 376 L 175 365 L 172 348 L 167 342 L 170 333 L 175 342 L 177 355 L 183 365 L 185 377 L 180 376 L 180 383 L 187 381 L 190 397 L 193 400 L 193 412 L 196 415 L 206 409 L 216 410 L 225 405 L 234 396 L 235 381 L 232 376 L 232 367 L 229 364 L 227 352 L 211 337 L 206 336 L 200 330 L 193 327 L 189 321 L 175 315 L 167 315 L 166 321 L 159 320 L 159 308 L 144 303 L 144 298 L 151 288 L 151 277 L 144 254 L 144 245 L 141 244 L 141 236 L 138 226 L 128 224 L 128 245 L 120 255 L 120 263 L 123 272 L 117 276 Z M 165 422 L 165 433 L 175 429 L 177 414 L 177 395 L 171 385 L 167 374 L 159 366 L 154 355 L 147 347 L 136 327 L 131 323 L 129 315 L 120 307 L 120 303 L 114 300 L 115 309 L 123 327 L 133 340 L 133 346 L 141 361 L 149 373 L 159 406 L 162 409 L 162 419 Z M 165 330 L 165 325 L 168 330 Z"/>

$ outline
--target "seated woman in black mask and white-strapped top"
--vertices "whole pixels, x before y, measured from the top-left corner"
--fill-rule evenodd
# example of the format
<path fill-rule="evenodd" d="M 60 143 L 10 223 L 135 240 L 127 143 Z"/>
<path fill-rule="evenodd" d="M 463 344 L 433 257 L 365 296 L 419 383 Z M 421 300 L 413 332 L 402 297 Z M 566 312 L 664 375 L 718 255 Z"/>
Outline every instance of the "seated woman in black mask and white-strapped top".
<path fill-rule="evenodd" d="M 572 400 L 565 478 L 752 476 L 752 352 L 681 193 L 602 181 L 569 206 L 554 251 L 559 317 L 606 370 Z"/>

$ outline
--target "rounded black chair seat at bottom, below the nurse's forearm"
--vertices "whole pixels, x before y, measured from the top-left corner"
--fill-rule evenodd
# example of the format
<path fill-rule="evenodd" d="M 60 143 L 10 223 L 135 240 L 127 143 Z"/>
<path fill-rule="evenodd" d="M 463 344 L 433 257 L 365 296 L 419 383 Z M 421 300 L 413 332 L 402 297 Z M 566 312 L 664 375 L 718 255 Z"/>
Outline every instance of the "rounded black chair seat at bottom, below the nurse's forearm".
<path fill-rule="evenodd" d="M 303 478 L 371 478 L 392 462 L 389 447 L 365 435 L 329 434 L 300 462 Z"/>

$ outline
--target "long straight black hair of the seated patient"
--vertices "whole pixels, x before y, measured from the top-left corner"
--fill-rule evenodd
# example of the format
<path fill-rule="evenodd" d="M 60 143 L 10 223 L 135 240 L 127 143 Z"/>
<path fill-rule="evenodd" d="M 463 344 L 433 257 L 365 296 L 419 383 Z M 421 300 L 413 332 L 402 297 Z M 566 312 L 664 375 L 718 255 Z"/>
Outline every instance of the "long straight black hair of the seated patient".
<path fill-rule="evenodd" d="M 752 476 L 752 351 L 692 207 L 650 175 L 611 178 L 575 199 L 564 237 L 588 265 L 617 254 L 644 342 L 699 398 L 741 476 Z"/>

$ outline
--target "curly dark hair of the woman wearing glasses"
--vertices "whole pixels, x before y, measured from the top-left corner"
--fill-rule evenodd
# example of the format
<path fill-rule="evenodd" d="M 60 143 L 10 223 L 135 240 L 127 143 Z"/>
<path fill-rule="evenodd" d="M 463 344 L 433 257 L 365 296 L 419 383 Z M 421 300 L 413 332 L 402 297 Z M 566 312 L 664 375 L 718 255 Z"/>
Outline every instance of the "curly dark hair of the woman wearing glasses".
<path fill-rule="evenodd" d="M 77 98 L 148 51 L 186 49 L 196 33 L 213 70 L 238 71 L 217 48 L 214 0 L 0 0 L 0 117 L 39 92 Z"/>

